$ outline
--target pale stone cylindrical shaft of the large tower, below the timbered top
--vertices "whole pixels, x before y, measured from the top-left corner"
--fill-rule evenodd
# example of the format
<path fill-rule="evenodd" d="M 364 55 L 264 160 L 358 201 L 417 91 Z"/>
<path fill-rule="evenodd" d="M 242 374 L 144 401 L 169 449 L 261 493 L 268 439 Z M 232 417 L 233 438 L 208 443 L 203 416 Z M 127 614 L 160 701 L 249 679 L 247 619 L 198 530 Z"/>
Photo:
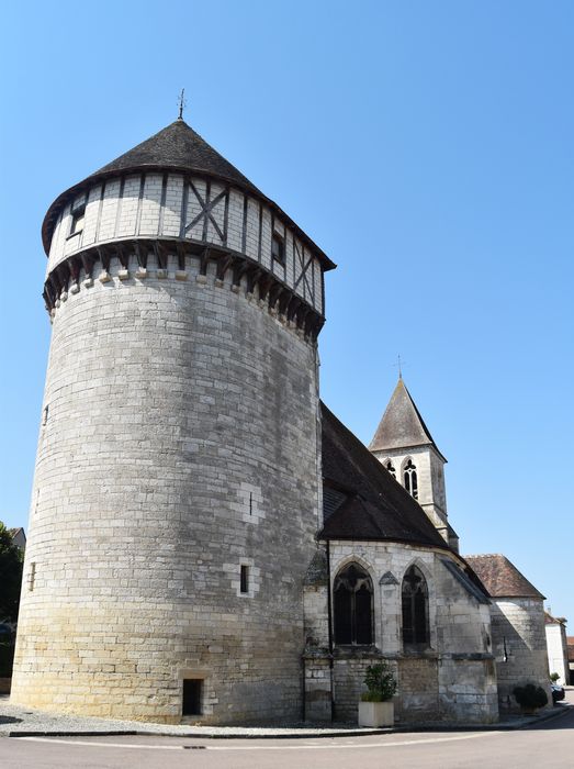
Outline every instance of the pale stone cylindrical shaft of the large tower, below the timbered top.
<path fill-rule="evenodd" d="M 201 678 L 194 722 L 300 718 L 316 346 L 190 257 L 100 269 L 54 315 L 12 699 L 178 722 Z"/>

